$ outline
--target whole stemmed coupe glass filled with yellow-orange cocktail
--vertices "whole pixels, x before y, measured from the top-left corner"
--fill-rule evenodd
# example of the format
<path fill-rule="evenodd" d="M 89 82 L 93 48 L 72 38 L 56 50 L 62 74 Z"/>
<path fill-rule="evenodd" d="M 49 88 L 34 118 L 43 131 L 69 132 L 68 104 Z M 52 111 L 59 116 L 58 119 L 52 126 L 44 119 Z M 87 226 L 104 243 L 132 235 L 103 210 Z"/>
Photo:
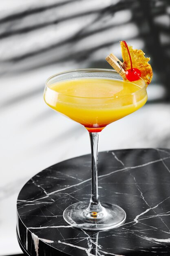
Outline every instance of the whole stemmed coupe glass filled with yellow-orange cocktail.
<path fill-rule="evenodd" d="M 96 92 L 84 94 L 82 85 L 77 86 L 75 93 L 65 90 L 57 92 L 57 83 L 85 81 L 90 83 L 91 79 L 100 81 Z M 139 90 L 119 96 L 98 94 L 102 81 L 113 80 L 122 86 L 123 79 L 114 70 L 106 69 L 84 69 L 62 72 L 51 76 L 46 81 L 44 100 L 54 110 L 64 114 L 66 117 L 84 125 L 88 130 L 91 141 L 91 199 L 89 202 L 78 202 L 67 207 L 63 213 L 64 220 L 80 229 L 105 230 L 120 226 L 126 219 L 125 211 L 116 204 L 99 201 L 97 187 L 97 158 L 99 134 L 104 127 L 130 113 L 141 108 L 147 101 L 145 82 L 139 79 L 135 82 L 128 82 L 129 86 L 134 84 Z M 76 82 L 77 82 L 76 81 Z M 121 82 L 121 83 L 119 83 Z M 55 90 L 53 89 L 55 85 Z M 102 89 L 103 90 L 103 89 Z M 115 94 L 116 95 L 116 94 Z"/>

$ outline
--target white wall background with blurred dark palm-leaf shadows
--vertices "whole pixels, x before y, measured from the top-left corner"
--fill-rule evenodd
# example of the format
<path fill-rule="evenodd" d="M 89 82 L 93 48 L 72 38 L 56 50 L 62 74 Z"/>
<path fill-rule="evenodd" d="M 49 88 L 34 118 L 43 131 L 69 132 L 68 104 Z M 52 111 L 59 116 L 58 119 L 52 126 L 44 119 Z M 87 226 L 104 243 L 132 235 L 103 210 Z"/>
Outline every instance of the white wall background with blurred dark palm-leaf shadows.
<path fill-rule="evenodd" d="M 0 256 L 22 253 L 16 199 L 44 168 L 90 153 L 84 127 L 43 102 L 57 72 L 110 68 L 120 40 L 150 56 L 153 80 L 146 105 L 106 127 L 99 151 L 170 147 L 169 0 L 0 1 Z"/>

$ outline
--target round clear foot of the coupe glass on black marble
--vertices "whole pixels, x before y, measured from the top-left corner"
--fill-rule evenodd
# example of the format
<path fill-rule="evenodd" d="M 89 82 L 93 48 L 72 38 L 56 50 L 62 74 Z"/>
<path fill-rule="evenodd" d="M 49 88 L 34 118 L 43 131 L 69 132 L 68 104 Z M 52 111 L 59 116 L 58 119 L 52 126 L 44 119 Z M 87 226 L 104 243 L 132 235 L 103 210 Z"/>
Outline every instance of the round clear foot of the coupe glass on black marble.
<path fill-rule="evenodd" d="M 88 211 L 89 202 L 78 202 L 67 207 L 64 220 L 79 229 L 97 231 L 119 227 L 126 220 L 125 211 L 116 204 L 101 202 L 102 211 Z"/>

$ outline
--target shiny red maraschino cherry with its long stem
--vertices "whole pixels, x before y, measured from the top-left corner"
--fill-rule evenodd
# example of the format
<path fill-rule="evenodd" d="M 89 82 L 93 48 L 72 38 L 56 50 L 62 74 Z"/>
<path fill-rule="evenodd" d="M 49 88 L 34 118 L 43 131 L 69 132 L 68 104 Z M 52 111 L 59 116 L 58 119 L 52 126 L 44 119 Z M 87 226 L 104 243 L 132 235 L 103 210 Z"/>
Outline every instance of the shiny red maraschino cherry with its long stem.
<path fill-rule="evenodd" d="M 140 70 L 138 70 L 138 68 L 133 68 L 132 67 L 132 59 L 131 59 L 131 56 L 130 56 L 128 45 L 127 45 L 126 41 L 123 41 L 123 43 L 125 44 L 126 49 L 128 51 L 129 58 L 130 58 L 130 65 L 131 65 L 131 68 L 129 70 L 126 70 L 126 73 L 125 73 L 126 78 L 130 82 L 137 81 L 137 80 L 139 80 L 139 78 L 141 76 L 141 72 L 140 72 Z"/>

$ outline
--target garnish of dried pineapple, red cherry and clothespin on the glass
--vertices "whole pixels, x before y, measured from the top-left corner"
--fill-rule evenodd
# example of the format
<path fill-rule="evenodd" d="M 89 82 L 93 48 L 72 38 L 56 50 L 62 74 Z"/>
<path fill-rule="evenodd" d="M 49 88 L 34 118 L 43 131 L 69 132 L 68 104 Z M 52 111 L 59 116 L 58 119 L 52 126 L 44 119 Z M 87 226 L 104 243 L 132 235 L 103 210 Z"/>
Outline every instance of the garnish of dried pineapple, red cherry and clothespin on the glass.
<path fill-rule="evenodd" d="M 140 77 L 144 79 L 146 86 L 152 80 L 152 67 L 148 63 L 150 58 L 146 58 L 145 53 L 141 49 L 133 49 L 131 45 L 127 45 L 126 41 L 121 41 L 121 53 L 124 62 L 122 63 L 112 53 L 106 57 L 106 61 L 120 74 L 124 80 L 130 82 L 137 81 Z M 132 63 L 135 67 L 132 67 Z"/>

